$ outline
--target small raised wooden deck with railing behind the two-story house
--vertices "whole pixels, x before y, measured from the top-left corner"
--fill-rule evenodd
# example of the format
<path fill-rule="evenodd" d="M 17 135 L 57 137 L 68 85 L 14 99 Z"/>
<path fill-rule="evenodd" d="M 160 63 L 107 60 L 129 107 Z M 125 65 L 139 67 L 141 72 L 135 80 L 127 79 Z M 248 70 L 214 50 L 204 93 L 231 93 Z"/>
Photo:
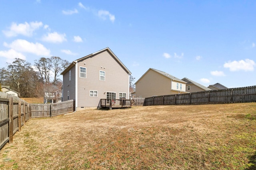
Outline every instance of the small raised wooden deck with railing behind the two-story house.
<path fill-rule="evenodd" d="M 101 107 L 109 107 L 112 108 L 128 108 L 132 107 L 131 100 L 128 99 L 101 99 L 100 100 Z"/>

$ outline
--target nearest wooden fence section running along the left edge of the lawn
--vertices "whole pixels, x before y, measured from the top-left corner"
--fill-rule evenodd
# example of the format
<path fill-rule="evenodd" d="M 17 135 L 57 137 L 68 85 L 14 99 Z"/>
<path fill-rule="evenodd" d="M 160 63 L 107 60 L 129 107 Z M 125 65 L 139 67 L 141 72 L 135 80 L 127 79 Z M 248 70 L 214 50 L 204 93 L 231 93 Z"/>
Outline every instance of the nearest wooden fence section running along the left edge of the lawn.
<path fill-rule="evenodd" d="M 9 142 L 13 135 L 21 131 L 26 121 L 31 119 L 30 107 L 24 100 L 10 94 L 0 92 L 0 149 Z"/>

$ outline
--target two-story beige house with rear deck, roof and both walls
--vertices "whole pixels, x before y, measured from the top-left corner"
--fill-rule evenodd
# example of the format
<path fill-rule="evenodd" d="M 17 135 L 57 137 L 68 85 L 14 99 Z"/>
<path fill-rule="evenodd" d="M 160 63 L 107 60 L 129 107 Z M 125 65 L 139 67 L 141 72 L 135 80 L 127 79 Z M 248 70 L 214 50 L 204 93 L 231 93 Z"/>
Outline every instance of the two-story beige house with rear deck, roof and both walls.
<path fill-rule="evenodd" d="M 76 110 L 100 107 L 100 99 L 129 99 L 131 72 L 107 47 L 73 61 L 62 73 L 63 101 Z"/>

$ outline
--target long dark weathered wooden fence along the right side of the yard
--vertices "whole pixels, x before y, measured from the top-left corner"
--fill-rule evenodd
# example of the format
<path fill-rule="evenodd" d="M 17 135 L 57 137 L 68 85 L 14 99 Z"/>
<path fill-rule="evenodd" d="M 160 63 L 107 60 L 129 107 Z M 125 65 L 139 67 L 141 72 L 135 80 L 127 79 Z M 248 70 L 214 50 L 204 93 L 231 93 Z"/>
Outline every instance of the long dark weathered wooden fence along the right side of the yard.
<path fill-rule="evenodd" d="M 256 102 L 256 86 L 145 98 L 144 106 Z"/>

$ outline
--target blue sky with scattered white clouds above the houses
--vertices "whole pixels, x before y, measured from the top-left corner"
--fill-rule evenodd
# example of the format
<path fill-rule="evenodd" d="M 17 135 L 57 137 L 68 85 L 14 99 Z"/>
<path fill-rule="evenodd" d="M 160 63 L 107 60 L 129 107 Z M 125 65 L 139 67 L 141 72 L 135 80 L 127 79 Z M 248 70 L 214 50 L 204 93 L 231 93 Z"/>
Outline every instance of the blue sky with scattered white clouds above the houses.
<path fill-rule="evenodd" d="M 135 80 L 155 68 L 204 86 L 254 86 L 255 18 L 256 1 L 244 0 L 0 0 L 0 68 L 109 47 Z"/>

